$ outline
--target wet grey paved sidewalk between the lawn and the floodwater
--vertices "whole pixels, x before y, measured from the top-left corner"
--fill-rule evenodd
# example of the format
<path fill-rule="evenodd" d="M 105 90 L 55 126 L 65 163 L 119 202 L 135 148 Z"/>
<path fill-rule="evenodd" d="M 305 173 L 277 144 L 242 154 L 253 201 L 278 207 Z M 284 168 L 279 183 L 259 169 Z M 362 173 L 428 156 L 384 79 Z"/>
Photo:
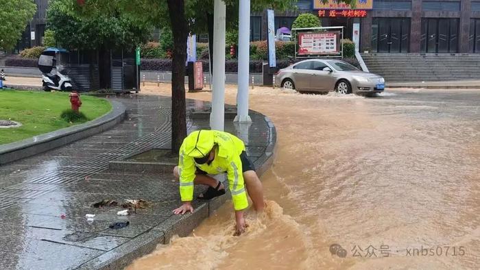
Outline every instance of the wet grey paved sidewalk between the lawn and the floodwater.
<path fill-rule="evenodd" d="M 167 234 L 175 226 L 172 221 L 177 220 L 171 210 L 180 203 L 172 175 L 120 173 L 108 169 L 108 162 L 169 146 L 170 98 L 112 99 L 128 110 L 128 118 L 112 130 L 0 167 L 1 269 L 95 269 L 122 260 L 121 266 L 156 243 L 168 241 L 171 235 Z M 206 111 L 209 103 L 188 100 L 187 108 Z M 189 130 L 208 127 L 208 118 L 189 115 Z M 253 123 L 246 129 L 227 119 L 226 131 L 248 140 L 247 154 L 258 167 L 272 155 L 267 145 L 272 145 L 276 134 L 265 116 L 256 112 L 250 116 Z M 201 191 L 196 189 L 197 194 Z M 117 216 L 121 207 L 91 207 L 102 199 L 122 203 L 140 198 L 152 205 L 127 217 Z M 195 206 L 208 216 L 208 204 L 196 201 Z M 85 214 L 96 214 L 95 221 L 88 223 Z M 117 221 L 130 221 L 130 225 L 110 229 Z M 143 248 L 145 238 L 155 245 Z"/>

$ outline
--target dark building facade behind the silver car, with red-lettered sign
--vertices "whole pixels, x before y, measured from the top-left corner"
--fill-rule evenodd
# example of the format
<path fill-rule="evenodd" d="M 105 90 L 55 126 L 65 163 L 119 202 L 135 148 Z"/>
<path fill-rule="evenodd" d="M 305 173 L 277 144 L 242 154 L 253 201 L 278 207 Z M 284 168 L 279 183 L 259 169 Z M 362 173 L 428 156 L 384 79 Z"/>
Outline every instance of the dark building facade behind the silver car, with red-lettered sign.
<path fill-rule="evenodd" d="M 331 0 L 298 1 L 298 11 L 277 12 L 275 27 L 289 27 L 300 13 L 322 26 L 344 26 L 352 38 L 360 23 L 361 51 L 379 53 L 480 53 L 480 0 L 357 0 L 354 8 Z M 253 13 L 251 39 L 267 38 L 266 12 Z"/>

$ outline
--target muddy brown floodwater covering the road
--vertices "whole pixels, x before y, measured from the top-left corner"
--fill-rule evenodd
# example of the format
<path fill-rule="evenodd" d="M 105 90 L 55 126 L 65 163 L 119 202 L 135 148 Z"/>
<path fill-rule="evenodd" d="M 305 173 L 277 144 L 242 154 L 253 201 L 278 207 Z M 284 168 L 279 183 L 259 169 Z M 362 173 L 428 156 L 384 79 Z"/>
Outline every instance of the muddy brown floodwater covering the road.
<path fill-rule="evenodd" d="M 226 102 L 235 99 L 230 86 Z M 477 90 L 251 90 L 250 107 L 278 132 L 261 177 L 265 214 L 248 212 L 248 231 L 235 237 L 225 204 L 128 269 L 479 269 L 479 105 Z"/>

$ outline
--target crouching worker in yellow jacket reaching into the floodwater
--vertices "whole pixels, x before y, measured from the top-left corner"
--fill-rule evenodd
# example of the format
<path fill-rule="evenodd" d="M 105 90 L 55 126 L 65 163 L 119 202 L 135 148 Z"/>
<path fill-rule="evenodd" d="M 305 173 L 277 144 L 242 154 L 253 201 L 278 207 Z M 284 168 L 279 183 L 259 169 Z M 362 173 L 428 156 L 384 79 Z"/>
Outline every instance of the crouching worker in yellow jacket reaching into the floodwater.
<path fill-rule="evenodd" d="M 194 184 L 208 186 L 206 192 L 197 199 L 212 199 L 224 195 L 224 184 L 207 174 L 227 173 L 237 221 L 236 234 L 244 232 L 243 210 L 248 207 L 245 186 L 257 212 L 263 210 L 265 202 L 262 184 L 245 153 L 243 141 L 227 132 L 198 130 L 183 140 L 179 156 L 178 166 L 173 169 L 173 175 L 180 180 L 180 197 L 183 204 L 173 210 L 173 213 L 193 212 L 191 201 Z"/>

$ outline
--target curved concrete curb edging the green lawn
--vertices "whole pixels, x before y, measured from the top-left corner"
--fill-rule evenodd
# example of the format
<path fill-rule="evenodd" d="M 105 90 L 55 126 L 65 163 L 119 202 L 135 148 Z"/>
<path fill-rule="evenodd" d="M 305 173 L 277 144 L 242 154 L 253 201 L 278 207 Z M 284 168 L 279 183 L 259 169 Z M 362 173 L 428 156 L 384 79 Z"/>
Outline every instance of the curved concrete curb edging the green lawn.
<path fill-rule="evenodd" d="M 110 101 L 110 103 L 112 110 L 93 121 L 0 145 L 0 164 L 34 156 L 110 129 L 123 121 L 125 117 L 125 106 L 122 103 L 118 101 Z"/>

